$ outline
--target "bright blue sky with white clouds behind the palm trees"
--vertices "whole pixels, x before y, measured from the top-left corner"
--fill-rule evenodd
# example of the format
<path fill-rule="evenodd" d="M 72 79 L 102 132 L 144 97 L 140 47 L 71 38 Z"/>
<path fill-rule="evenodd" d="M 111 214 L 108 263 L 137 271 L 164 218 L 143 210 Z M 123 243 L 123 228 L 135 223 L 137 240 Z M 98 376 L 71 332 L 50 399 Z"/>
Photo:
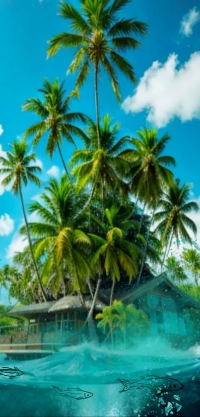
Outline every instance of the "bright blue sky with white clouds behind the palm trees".
<path fill-rule="evenodd" d="M 194 0 L 195 1 L 195 0 Z M 77 0 L 72 1 L 79 7 Z M 46 59 L 47 40 L 62 31 L 68 31 L 67 21 L 57 15 L 58 0 L 1 0 L 0 1 L 0 153 L 8 149 L 13 139 L 20 137 L 36 118 L 21 111 L 24 100 L 37 97 L 44 77 L 51 82 L 58 76 L 66 81 L 71 91 L 75 78 L 66 77 L 72 51 L 60 51 Z M 142 46 L 127 53 L 134 66 L 137 88 L 119 75 L 122 107 L 117 103 L 106 74 L 101 75 L 99 100 L 100 115 L 109 113 L 122 124 L 121 135 L 133 135 L 141 126 L 157 126 L 158 136 L 168 132 L 171 141 L 167 154 L 175 157 L 174 172 L 183 182 L 194 184 L 193 198 L 199 200 L 200 154 L 200 12 L 191 0 L 159 1 L 133 0 L 124 16 L 135 16 L 149 25 L 149 36 Z M 122 15 L 123 17 L 123 15 Z M 153 62 L 160 64 L 154 64 Z M 153 67 L 152 67 L 153 65 Z M 79 101 L 72 109 L 95 117 L 93 75 L 81 89 Z M 129 97 L 129 98 L 127 98 Z M 76 142 L 81 146 L 79 141 Z M 62 171 L 59 156 L 53 161 L 45 154 L 46 141 L 36 149 L 43 168 L 42 184 L 52 166 Z M 73 147 L 63 146 L 66 161 Z M 58 168 L 50 172 L 58 174 Z M 23 191 L 26 207 L 40 190 L 29 185 Z M 23 247 L 17 235 L 22 222 L 21 205 L 9 190 L 0 187 L 0 267 L 11 262 L 14 250 Z M 200 229 L 199 214 L 193 218 Z M 1 302 L 7 298 L 1 293 Z"/>

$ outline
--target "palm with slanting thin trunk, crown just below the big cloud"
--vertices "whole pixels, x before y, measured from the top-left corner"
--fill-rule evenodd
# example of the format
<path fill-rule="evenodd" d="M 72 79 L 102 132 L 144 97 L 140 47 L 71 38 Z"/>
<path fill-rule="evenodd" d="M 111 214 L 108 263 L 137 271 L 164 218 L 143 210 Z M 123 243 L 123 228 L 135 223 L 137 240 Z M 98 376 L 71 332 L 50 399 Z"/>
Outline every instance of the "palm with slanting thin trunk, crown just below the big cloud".
<path fill-rule="evenodd" d="M 157 130 L 147 128 L 139 130 L 137 135 L 139 138 L 133 138 L 131 141 L 134 149 L 127 149 L 123 154 L 123 158 L 126 158 L 131 163 L 130 186 L 136 195 L 136 199 L 143 200 L 143 213 L 145 207 L 152 209 L 152 217 L 149 222 L 143 258 L 137 279 L 138 284 L 146 258 L 146 250 L 151 226 L 154 221 L 156 203 L 162 194 L 163 186 L 169 185 L 172 182 L 173 173 L 168 169 L 168 166 L 175 166 L 175 160 L 170 156 L 162 155 L 167 142 L 170 140 L 169 135 L 165 134 L 161 139 L 158 139 Z"/>

